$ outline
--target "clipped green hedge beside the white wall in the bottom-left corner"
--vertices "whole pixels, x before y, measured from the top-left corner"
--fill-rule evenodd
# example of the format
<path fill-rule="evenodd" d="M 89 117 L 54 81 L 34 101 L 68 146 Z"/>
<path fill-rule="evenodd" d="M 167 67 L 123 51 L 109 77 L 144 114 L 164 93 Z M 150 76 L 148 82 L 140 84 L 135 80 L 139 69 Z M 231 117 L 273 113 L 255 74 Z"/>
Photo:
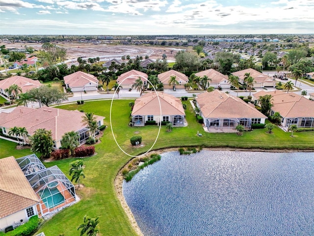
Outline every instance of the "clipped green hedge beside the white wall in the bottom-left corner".
<path fill-rule="evenodd" d="M 29 218 L 28 222 L 19 226 L 13 231 L 6 234 L 2 233 L 0 236 L 32 236 L 38 229 L 39 219 L 38 215 Z M 0 232 L 1 233 L 1 232 Z"/>

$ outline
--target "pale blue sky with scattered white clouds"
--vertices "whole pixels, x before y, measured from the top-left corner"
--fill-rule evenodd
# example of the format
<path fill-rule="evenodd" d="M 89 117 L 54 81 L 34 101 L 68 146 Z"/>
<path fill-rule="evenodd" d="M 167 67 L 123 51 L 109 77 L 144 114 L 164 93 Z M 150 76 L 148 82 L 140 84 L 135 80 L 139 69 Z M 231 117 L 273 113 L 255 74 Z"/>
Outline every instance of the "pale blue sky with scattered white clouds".
<path fill-rule="evenodd" d="M 0 0 L 0 34 L 314 33 L 314 0 Z"/>

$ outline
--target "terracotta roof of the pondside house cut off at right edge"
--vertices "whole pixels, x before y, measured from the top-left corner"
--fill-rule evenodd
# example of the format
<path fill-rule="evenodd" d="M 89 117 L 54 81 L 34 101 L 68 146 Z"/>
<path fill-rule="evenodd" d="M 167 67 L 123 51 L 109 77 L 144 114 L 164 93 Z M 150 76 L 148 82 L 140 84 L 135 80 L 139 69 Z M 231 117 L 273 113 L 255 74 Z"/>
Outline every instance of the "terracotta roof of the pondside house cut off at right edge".
<path fill-rule="evenodd" d="M 282 117 L 314 117 L 314 101 L 302 97 L 294 92 L 285 93 L 282 91 L 264 92 L 271 94 L 273 107 L 271 110 L 279 112 Z M 256 97 L 257 94 L 254 94 Z"/>

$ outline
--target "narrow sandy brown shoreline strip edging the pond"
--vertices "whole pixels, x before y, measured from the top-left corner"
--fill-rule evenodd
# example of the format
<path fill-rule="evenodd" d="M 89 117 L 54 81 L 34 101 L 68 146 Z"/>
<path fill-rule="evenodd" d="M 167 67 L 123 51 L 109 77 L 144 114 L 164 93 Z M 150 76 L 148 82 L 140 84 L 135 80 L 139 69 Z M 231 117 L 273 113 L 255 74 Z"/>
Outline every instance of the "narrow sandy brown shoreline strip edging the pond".
<path fill-rule="evenodd" d="M 149 156 L 150 154 L 156 153 L 156 154 L 162 154 L 164 152 L 170 152 L 170 151 L 178 151 L 178 148 L 160 148 L 157 150 L 152 150 L 150 152 L 148 152 L 146 155 Z M 299 150 L 299 149 L 260 149 L 260 148 L 254 148 L 254 149 L 246 149 L 246 148 L 203 148 L 203 150 L 209 150 L 209 151 L 261 151 L 261 152 L 314 152 L 314 149 L 304 149 L 304 150 Z M 124 177 L 122 175 L 122 169 L 129 165 L 131 163 L 131 161 L 133 160 L 133 158 L 131 158 L 128 163 L 126 163 L 118 172 L 117 176 L 114 179 L 114 189 L 115 189 L 115 193 L 117 198 L 120 201 L 120 204 L 122 206 L 122 208 L 124 209 L 125 213 L 127 214 L 129 221 L 131 223 L 131 226 L 133 228 L 133 230 L 136 232 L 136 234 L 138 236 L 144 236 L 144 234 L 142 233 L 141 229 L 139 228 L 135 217 L 133 215 L 133 213 L 131 212 L 130 207 L 128 206 L 124 195 L 123 195 L 123 191 L 122 191 L 122 184 L 123 184 L 123 180 Z"/>

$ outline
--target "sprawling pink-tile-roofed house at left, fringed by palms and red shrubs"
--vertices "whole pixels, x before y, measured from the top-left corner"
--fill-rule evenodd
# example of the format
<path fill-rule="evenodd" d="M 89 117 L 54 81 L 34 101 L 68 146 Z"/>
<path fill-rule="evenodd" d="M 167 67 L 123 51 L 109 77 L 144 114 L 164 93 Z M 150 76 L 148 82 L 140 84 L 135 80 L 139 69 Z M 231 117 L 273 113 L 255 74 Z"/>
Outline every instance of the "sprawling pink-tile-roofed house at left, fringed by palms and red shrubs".
<path fill-rule="evenodd" d="M 52 131 L 54 149 L 61 147 L 62 136 L 70 131 L 78 132 L 80 145 L 84 144 L 89 137 L 89 129 L 83 124 L 84 113 L 68 111 L 52 107 L 38 109 L 19 106 L 10 113 L 0 113 L 0 129 L 9 136 L 10 128 L 25 127 L 29 135 L 33 135 L 37 129 Z M 98 127 L 104 124 L 104 118 L 95 116 Z M 1 136 L 0 136 L 1 137 Z M 14 137 L 14 136 L 12 136 Z M 21 137 L 22 139 L 22 137 Z M 26 143 L 28 140 L 26 140 Z"/>

